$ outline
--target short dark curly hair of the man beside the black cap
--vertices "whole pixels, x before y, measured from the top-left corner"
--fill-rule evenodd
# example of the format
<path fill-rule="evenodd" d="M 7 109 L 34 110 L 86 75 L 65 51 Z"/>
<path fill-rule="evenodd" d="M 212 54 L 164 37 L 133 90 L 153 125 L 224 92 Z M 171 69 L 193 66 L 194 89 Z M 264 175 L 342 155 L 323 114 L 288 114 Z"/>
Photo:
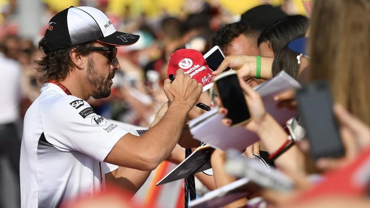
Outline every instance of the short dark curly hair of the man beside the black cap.
<path fill-rule="evenodd" d="M 257 38 L 259 31 L 251 24 L 245 22 L 227 24 L 219 29 L 216 35 L 212 38 L 212 45 L 219 46 L 221 50 L 225 51 L 231 41 L 240 34 L 244 34 L 246 37 Z"/>

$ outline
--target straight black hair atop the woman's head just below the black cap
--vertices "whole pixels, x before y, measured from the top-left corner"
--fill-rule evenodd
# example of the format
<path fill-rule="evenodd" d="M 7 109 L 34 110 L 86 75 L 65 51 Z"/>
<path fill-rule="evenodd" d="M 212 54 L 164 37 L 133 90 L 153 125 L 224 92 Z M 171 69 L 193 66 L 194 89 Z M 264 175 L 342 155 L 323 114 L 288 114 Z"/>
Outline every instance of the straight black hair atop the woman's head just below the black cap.
<path fill-rule="evenodd" d="M 272 23 L 262 31 L 259 44 L 268 41 L 276 55 L 285 44 L 306 33 L 308 18 L 302 15 L 287 15 Z"/>

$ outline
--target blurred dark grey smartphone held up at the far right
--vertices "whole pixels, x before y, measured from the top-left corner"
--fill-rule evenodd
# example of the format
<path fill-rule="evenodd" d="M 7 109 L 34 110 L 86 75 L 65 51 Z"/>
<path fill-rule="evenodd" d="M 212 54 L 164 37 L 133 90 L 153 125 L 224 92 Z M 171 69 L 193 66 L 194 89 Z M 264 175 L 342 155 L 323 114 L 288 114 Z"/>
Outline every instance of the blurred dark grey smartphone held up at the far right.
<path fill-rule="evenodd" d="M 334 117 L 329 85 L 325 81 L 309 83 L 297 90 L 296 98 L 312 158 L 342 157 L 344 147 Z"/>

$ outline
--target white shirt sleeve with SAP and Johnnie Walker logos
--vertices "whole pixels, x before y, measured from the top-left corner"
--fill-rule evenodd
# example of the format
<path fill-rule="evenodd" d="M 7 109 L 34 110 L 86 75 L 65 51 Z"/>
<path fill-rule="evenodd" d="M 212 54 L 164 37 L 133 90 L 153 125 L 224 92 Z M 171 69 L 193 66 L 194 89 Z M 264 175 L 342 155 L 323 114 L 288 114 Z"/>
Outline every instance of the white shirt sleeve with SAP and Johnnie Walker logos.
<path fill-rule="evenodd" d="M 79 151 L 104 161 L 117 141 L 128 133 L 73 95 L 40 98 L 39 109 L 45 138 L 60 151 Z"/>

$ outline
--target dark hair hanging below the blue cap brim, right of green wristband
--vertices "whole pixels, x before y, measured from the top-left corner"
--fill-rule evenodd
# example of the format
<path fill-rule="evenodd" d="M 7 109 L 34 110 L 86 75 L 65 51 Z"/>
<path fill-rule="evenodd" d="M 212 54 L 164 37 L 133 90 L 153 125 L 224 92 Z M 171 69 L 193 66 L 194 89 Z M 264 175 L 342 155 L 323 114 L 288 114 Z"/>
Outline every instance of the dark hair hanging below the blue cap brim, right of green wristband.
<path fill-rule="evenodd" d="M 299 64 L 297 56 L 299 54 L 290 50 L 286 44 L 277 54 L 272 62 L 272 76 L 275 77 L 280 71 L 285 71 L 293 78 L 297 78 Z"/>

